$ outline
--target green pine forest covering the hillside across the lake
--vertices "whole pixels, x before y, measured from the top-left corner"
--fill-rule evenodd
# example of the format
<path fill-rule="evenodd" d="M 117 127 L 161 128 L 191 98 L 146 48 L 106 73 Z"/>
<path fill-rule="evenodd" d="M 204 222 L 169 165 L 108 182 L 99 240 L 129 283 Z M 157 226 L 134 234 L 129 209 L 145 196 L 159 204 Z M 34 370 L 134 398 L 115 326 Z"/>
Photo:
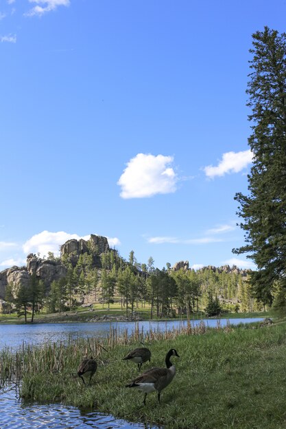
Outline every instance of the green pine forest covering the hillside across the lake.
<path fill-rule="evenodd" d="M 53 281 L 49 287 L 31 275 L 29 287 L 20 287 L 16 299 L 13 285 L 8 285 L 6 301 L 19 315 L 33 312 L 62 312 L 74 310 L 83 303 L 100 303 L 102 308 L 110 304 L 133 316 L 146 307 L 150 308 L 150 318 L 176 317 L 195 312 L 219 315 L 222 312 L 253 312 L 262 305 L 252 297 L 247 276 L 241 273 L 227 273 L 211 268 L 179 269 L 154 267 L 154 260 L 139 264 L 130 252 L 124 260 L 115 250 L 101 254 L 101 267 L 95 267 L 93 252 L 81 254 L 75 266 L 70 258 L 62 258 L 67 275 Z M 48 258 L 54 258 L 49 254 Z"/>

